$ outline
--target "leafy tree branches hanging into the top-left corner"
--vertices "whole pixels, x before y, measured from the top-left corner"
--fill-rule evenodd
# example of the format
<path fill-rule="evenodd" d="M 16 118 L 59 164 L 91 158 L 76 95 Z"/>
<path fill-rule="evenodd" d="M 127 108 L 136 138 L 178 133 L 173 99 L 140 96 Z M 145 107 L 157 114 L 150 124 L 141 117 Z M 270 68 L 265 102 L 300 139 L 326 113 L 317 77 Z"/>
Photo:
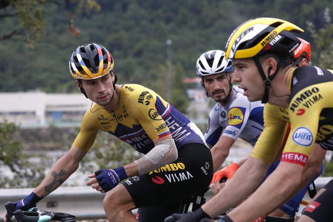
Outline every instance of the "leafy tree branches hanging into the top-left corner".
<path fill-rule="evenodd" d="M 0 19 L 6 20 L 2 27 L 0 40 L 16 39 L 26 41 L 30 46 L 45 35 L 45 17 L 49 4 L 55 4 L 64 9 L 64 14 L 69 17 L 69 30 L 78 34 L 79 29 L 74 26 L 74 6 L 78 2 L 79 10 L 99 10 L 99 5 L 94 0 L 2 0 L 0 3 Z M 2 22 L 3 23 L 3 22 Z"/>

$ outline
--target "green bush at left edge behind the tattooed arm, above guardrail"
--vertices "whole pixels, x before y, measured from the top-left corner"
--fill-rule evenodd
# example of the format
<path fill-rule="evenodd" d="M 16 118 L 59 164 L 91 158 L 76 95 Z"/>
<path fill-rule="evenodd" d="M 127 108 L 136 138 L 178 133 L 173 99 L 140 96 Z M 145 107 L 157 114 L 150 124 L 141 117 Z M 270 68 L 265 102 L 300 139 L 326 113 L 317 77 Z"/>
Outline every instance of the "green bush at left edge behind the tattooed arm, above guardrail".
<path fill-rule="evenodd" d="M 19 127 L 7 121 L 0 122 L 0 186 L 2 188 L 35 187 L 44 178 L 44 168 L 29 162 L 15 138 Z"/>

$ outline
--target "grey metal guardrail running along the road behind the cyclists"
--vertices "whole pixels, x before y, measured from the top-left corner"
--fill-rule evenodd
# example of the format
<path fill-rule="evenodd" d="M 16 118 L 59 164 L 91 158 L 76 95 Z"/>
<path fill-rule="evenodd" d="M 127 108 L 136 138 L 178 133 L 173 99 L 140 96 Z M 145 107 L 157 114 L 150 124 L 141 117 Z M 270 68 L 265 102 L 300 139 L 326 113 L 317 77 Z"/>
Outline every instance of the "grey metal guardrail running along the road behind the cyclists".
<path fill-rule="evenodd" d="M 315 181 L 317 190 L 321 189 L 333 177 L 319 177 Z M 0 189 L 0 221 L 4 221 L 5 203 L 20 200 L 31 193 L 32 188 Z M 205 194 L 209 200 L 213 196 L 211 191 Z M 67 212 L 80 219 L 104 219 L 102 200 L 104 194 L 96 192 L 91 187 L 60 187 L 38 202 L 38 207 L 58 212 Z M 136 210 L 133 211 L 135 213 Z"/>

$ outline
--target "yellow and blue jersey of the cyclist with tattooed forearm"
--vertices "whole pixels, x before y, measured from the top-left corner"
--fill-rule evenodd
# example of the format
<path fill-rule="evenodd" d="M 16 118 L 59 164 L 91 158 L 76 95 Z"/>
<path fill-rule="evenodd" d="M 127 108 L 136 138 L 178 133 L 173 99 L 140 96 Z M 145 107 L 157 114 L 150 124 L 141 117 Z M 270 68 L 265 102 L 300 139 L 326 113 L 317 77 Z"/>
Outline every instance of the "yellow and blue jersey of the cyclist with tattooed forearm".
<path fill-rule="evenodd" d="M 87 152 L 98 130 L 115 135 L 144 154 L 154 147 L 154 139 L 170 134 L 178 149 L 188 143 L 205 143 L 200 130 L 153 90 L 124 84 L 119 97 L 114 112 L 98 104 L 87 110 L 73 146 Z"/>

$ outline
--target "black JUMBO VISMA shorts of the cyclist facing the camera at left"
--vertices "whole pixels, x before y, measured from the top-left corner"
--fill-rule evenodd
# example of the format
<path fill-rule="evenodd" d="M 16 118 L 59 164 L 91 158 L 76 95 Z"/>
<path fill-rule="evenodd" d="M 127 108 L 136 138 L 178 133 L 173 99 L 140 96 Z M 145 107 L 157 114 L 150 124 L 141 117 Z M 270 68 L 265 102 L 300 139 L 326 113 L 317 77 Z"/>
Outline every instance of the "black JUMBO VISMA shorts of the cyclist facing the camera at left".
<path fill-rule="evenodd" d="M 207 189 L 213 176 L 211 152 L 201 143 L 186 144 L 178 159 L 123 185 L 138 207 L 139 221 L 163 221 L 179 211 L 182 199 Z"/>

